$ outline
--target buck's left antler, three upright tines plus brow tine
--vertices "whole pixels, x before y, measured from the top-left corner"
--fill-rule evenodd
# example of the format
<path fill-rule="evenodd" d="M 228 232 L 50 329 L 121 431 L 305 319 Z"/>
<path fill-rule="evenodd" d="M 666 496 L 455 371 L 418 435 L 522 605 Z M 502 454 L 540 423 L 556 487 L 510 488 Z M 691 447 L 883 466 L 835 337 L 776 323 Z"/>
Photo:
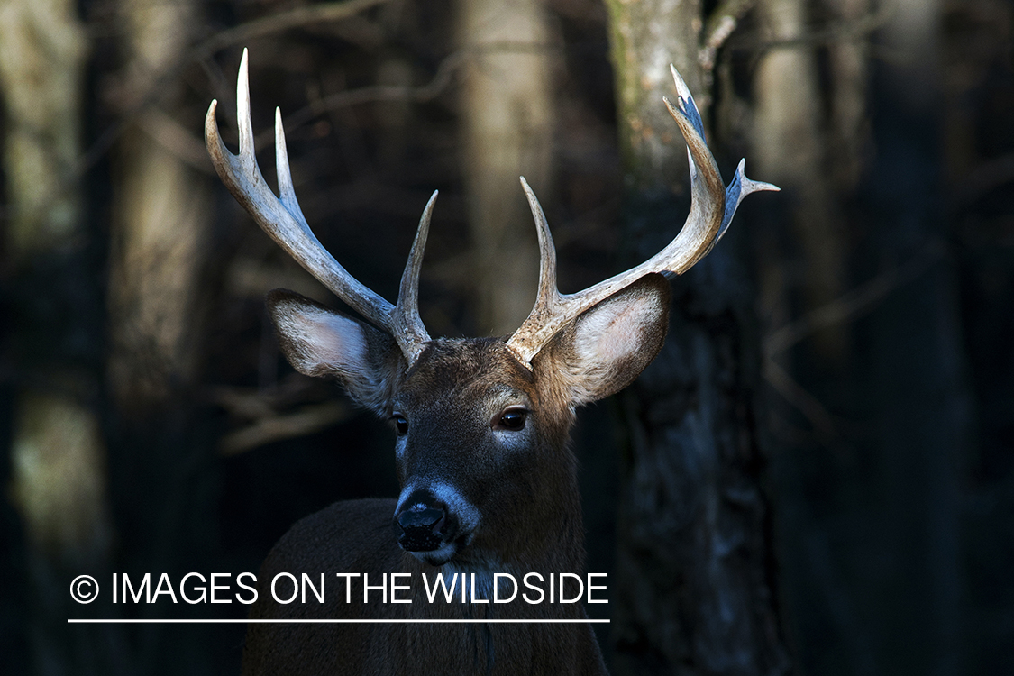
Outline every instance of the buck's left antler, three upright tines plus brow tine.
<path fill-rule="evenodd" d="M 279 108 L 275 108 L 275 163 L 280 197 L 275 197 L 271 187 L 265 182 L 257 158 L 254 156 L 254 128 L 250 122 L 246 58 L 246 50 L 243 50 L 236 82 L 238 155 L 229 152 L 219 136 L 218 122 L 215 119 L 217 100 L 211 102 L 208 116 L 205 118 L 205 143 L 215 170 L 236 201 L 249 212 L 258 225 L 279 246 L 350 307 L 371 323 L 387 331 L 397 342 L 405 358 L 412 365 L 422 353 L 424 344 L 430 340 L 419 316 L 418 290 L 419 270 L 437 194 L 433 194 L 426 209 L 423 210 L 416 240 L 409 254 L 409 262 L 402 276 L 397 304 L 391 305 L 349 275 L 310 230 L 292 186 L 289 156 L 285 149 L 285 132 L 282 128 L 282 112 Z"/>

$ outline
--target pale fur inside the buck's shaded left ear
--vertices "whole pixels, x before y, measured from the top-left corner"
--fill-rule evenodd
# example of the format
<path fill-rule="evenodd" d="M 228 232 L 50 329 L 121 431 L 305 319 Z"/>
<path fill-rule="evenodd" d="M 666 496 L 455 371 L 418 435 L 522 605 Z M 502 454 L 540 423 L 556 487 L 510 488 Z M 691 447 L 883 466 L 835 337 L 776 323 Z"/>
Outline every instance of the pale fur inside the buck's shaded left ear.
<path fill-rule="evenodd" d="M 363 329 L 354 319 L 312 307 L 285 303 L 276 322 L 291 347 L 292 366 L 306 375 L 344 373 L 362 377 L 367 366 Z"/>

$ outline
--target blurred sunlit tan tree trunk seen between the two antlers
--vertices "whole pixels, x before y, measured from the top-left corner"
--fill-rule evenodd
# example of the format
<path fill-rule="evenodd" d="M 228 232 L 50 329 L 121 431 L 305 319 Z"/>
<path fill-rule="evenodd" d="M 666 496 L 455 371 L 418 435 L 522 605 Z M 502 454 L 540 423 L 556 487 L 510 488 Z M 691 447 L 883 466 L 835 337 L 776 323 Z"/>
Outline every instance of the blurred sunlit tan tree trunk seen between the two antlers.
<path fill-rule="evenodd" d="M 462 152 L 481 333 L 510 333 L 535 300 L 535 229 L 518 176 L 546 198 L 553 95 L 545 14 L 539 0 L 458 5 L 458 34 L 468 52 Z"/>

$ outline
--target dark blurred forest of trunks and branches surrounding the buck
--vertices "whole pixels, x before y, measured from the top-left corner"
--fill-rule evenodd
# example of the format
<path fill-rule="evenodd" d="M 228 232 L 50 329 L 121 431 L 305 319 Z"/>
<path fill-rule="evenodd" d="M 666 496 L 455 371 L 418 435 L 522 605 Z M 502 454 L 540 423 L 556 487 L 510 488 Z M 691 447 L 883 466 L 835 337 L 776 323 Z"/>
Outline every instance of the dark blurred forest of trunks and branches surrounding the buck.
<path fill-rule="evenodd" d="M 524 174 L 574 291 L 682 223 L 676 65 L 749 198 L 670 337 L 583 410 L 617 674 L 986 676 L 1014 659 L 1014 3 L 0 0 L 5 674 L 237 673 L 245 607 L 110 575 L 257 571 L 294 521 L 394 496 L 391 433 L 279 356 L 263 297 L 334 303 L 214 175 L 250 50 L 323 244 L 388 299 L 440 190 L 432 334 L 530 308 Z M 234 148 L 235 146 L 233 146 Z M 94 575 L 102 599 L 67 593 Z"/>

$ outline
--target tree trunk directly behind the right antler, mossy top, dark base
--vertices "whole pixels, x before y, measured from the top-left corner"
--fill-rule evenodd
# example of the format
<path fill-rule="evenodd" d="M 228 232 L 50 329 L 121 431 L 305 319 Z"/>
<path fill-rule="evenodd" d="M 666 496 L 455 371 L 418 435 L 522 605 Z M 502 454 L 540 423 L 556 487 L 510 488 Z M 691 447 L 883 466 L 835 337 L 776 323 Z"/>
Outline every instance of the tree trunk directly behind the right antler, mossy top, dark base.
<path fill-rule="evenodd" d="M 608 8 L 626 225 L 640 261 L 675 235 L 689 210 L 685 146 L 661 96 L 672 96 L 672 62 L 707 104 L 698 65 L 702 5 Z M 739 228 L 674 282 L 669 339 L 622 395 L 631 443 L 617 529 L 618 674 L 789 668 L 760 490 L 756 333 L 736 254 Z"/>

